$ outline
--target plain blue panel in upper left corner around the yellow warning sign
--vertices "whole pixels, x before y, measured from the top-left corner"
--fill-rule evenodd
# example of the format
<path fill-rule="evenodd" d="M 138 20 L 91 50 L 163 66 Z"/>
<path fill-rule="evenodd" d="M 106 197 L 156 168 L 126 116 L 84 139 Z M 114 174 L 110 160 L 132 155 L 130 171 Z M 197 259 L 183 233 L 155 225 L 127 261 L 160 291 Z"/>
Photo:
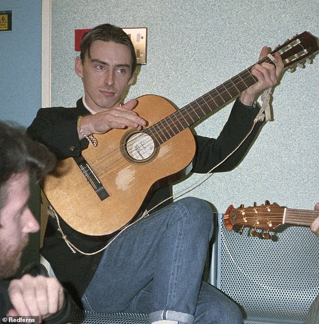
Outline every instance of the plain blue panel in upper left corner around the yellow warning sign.
<path fill-rule="evenodd" d="M 12 31 L 0 31 L 0 119 L 28 126 L 41 106 L 41 0 L 2 0 Z"/>

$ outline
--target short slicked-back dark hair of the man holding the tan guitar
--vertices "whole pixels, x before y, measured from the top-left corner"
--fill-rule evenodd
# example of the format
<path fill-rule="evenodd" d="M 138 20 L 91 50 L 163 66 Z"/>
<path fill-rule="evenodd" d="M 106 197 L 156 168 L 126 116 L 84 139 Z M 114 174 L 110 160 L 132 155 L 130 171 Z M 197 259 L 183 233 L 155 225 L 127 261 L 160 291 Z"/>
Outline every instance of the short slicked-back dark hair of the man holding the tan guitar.
<path fill-rule="evenodd" d="M 131 76 L 134 74 L 136 69 L 136 54 L 133 43 L 129 36 L 123 31 L 122 28 L 111 25 L 103 24 L 94 27 L 92 30 L 87 32 L 80 44 L 80 57 L 84 63 L 86 57 L 91 58 L 90 49 L 94 41 L 102 40 L 104 42 L 114 42 L 128 46 L 131 52 Z"/>

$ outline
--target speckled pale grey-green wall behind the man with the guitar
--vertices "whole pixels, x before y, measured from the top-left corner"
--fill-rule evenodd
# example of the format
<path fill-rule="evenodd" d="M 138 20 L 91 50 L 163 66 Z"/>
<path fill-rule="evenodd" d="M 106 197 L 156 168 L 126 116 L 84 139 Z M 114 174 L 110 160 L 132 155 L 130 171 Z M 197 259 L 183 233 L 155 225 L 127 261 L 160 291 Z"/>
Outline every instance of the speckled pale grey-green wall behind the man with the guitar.
<path fill-rule="evenodd" d="M 105 22 L 147 27 L 147 64 L 126 99 L 152 93 L 183 107 L 257 61 L 263 45 L 277 46 L 305 30 L 319 36 L 318 16 L 317 0 L 52 0 L 52 105 L 73 106 L 83 94 L 73 71 L 74 29 Z M 319 201 L 318 81 L 319 55 L 306 69 L 286 72 L 274 90 L 274 121 L 263 127 L 244 161 L 187 195 L 210 201 L 219 213 L 230 204 L 266 199 L 312 209 Z M 230 107 L 196 132 L 217 136 Z M 201 179 L 192 175 L 174 191 Z"/>

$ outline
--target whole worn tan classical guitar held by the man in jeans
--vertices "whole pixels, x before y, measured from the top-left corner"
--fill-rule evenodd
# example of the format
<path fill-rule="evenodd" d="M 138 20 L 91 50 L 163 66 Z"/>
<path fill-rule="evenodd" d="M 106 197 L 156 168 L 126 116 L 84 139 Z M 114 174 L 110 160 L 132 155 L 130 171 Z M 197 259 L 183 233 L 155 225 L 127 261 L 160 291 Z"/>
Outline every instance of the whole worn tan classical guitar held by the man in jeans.
<path fill-rule="evenodd" d="M 316 37 L 303 32 L 271 54 L 279 52 L 287 68 L 316 51 Z M 262 62 L 272 60 L 266 57 L 258 63 Z M 144 211 L 155 190 L 190 172 L 196 147 L 189 126 L 256 83 L 252 68 L 179 110 L 163 97 L 137 98 L 134 111 L 148 127 L 95 135 L 97 147 L 60 161 L 42 185 L 51 206 L 69 226 L 87 235 L 123 228 Z"/>

